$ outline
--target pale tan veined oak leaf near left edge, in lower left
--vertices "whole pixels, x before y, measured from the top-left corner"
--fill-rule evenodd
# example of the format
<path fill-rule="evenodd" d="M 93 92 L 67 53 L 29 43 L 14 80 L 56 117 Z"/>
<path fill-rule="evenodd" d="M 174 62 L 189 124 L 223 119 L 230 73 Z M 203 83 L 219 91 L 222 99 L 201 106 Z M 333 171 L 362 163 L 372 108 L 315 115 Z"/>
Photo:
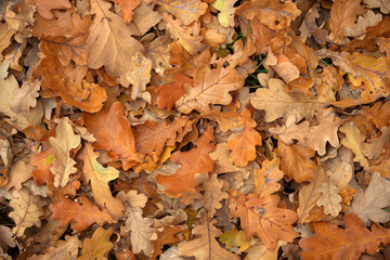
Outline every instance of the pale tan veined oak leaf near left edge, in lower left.
<path fill-rule="evenodd" d="M 27 187 L 18 191 L 10 202 L 13 211 L 10 212 L 9 217 L 15 222 L 12 232 L 16 236 L 22 236 L 29 226 L 36 225 L 40 227 L 41 221 L 39 217 L 44 214 L 42 209 L 44 205 L 42 197 L 32 195 Z"/>

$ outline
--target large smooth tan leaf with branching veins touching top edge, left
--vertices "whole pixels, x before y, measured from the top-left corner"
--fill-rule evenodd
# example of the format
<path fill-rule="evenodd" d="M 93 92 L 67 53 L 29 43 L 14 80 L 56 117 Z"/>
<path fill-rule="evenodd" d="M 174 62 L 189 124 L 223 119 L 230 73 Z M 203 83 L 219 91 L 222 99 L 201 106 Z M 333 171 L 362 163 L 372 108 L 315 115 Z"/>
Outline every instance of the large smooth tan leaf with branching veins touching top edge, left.
<path fill-rule="evenodd" d="M 143 53 L 144 48 L 131 37 L 138 35 L 136 27 L 133 24 L 126 25 L 118 15 L 109 11 L 110 6 L 112 4 L 106 1 L 91 1 L 90 13 L 95 16 L 87 38 L 90 50 L 88 66 L 91 68 L 104 66 L 107 74 L 121 76 L 123 82 L 126 74 L 131 72 L 129 57 L 136 52 Z"/>

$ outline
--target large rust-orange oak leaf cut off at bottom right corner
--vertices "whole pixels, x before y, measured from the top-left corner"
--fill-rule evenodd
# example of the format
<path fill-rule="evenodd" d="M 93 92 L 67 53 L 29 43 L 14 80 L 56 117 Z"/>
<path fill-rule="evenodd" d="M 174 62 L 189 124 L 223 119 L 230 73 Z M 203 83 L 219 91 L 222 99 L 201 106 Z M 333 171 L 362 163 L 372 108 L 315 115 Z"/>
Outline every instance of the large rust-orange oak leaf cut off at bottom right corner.
<path fill-rule="evenodd" d="M 315 236 L 299 240 L 303 259 L 359 259 L 362 252 L 374 255 L 380 243 L 390 243 L 390 230 L 373 225 L 367 230 L 352 213 L 344 217 L 346 230 L 329 222 L 314 222 Z"/>

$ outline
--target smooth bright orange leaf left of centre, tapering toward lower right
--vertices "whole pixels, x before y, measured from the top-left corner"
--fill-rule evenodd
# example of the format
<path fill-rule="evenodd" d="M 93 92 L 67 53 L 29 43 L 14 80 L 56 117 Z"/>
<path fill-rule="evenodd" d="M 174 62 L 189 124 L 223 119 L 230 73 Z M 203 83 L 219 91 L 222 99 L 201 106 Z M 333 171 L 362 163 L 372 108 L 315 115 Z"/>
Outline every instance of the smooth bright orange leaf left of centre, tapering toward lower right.
<path fill-rule="evenodd" d="M 113 160 L 121 161 L 125 170 L 142 161 L 135 151 L 130 122 L 125 117 L 125 107 L 119 102 L 112 104 L 108 112 L 84 114 L 84 125 L 96 139 L 93 147 L 106 150 Z"/>

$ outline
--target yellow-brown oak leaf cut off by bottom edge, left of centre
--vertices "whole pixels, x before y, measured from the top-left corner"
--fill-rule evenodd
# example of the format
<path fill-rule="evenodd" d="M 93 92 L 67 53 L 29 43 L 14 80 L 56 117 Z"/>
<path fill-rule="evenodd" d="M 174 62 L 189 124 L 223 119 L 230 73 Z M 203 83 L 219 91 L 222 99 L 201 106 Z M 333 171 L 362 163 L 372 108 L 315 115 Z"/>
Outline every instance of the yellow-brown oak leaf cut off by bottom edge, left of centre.
<path fill-rule="evenodd" d="M 107 260 L 105 256 L 114 247 L 113 243 L 109 242 L 113 232 L 113 227 L 109 227 L 108 230 L 98 227 L 91 238 L 86 238 L 83 240 L 81 257 L 78 257 L 76 260 Z"/>

